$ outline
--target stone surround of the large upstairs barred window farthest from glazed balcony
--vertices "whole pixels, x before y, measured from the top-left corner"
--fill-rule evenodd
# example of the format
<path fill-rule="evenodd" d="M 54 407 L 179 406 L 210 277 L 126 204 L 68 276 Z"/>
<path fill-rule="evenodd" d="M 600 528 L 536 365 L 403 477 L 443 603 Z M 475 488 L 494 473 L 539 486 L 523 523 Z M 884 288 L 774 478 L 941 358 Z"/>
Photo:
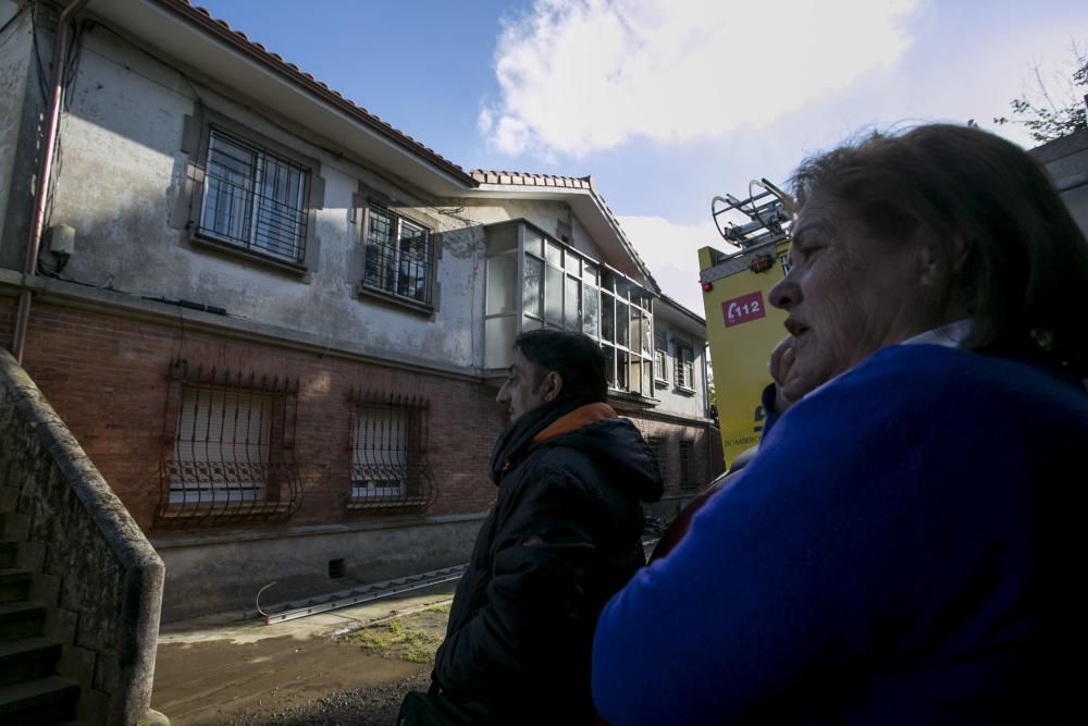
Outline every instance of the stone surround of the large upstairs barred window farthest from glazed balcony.
<path fill-rule="evenodd" d="M 225 137 L 226 141 L 256 151 L 264 159 L 270 156 L 274 157 L 302 172 L 304 183 L 299 193 L 301 199 L 299 212 L 302 219 L 299 224 L 300 250 L 297 258 L 289 259 L 267 251 L 255 244 L 252 241 L 256 239 L 258 233 L 256 225 L 250 231 L 251 242 L 248 244 L 231 241 L 214 230 L 203 226 L 203 213 L 209 196 L 209 167 L 213 135 Z M 304 282 L 309 282 L 320 259 L 317 212 L 323 209 L 324 205 L 324 179 L 321 176 L 321 162 L 218 113 L 202 103 L 197 103 L 194 114 L 185 118 L 181 150 L 189 156 L 189 160 L 184 193 L 178 195 L 178 204 L 175 205 L 172 213 L 171 224 L 183 230 L 183 243 L 194 249 L 223 253 L 231 257 L 257 262 L 268 269 L 287 272 L 293 276 L 301 278 Z M 255 192 L 251 193 L 255 194 Z"/>

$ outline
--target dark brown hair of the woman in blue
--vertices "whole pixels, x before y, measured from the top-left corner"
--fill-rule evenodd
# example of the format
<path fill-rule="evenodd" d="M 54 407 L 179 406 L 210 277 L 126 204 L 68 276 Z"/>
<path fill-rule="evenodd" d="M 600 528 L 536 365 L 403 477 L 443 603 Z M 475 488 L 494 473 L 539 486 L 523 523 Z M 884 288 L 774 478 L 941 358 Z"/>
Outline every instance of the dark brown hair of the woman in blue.
<path fill-rule="evenodd" d="M 1088 243 L 1046 170 L 1016 145 L 977 128 L 932 124 L 873 134 L 807 159 L 793 176 L 846 206 L 877 238 L 939 241 L 966 259 L 947 295 L 979 323 L 980 353 L 1088 376 Z"/>

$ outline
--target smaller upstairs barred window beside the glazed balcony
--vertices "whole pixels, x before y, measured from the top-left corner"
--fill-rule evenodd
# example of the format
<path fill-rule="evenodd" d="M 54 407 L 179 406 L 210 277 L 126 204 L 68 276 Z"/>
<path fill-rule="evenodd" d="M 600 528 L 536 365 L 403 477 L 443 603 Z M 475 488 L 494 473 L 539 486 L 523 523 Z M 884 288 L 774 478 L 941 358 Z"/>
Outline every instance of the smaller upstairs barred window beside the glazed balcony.
<path fill-rule="evenodd" d="M 362 284 L 394 297 L 432 304 L 431 231 L 384 207 L 367 210 L 367 263 Z"/>

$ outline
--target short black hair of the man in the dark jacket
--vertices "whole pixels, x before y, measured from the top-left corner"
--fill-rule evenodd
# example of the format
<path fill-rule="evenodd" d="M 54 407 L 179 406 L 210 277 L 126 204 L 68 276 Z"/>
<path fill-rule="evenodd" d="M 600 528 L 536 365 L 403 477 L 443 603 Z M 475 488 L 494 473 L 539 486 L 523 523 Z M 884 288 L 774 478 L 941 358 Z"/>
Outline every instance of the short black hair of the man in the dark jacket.
<path fill-rule="evenodd" d="M 531 330 L 518 335 L 514 349 L 540 368 L 540 385 L 551 371 L 562 378 L 559 401 L 572 397 L 608 399 L 605 356 L 589 335 L 567 330 Z"/>

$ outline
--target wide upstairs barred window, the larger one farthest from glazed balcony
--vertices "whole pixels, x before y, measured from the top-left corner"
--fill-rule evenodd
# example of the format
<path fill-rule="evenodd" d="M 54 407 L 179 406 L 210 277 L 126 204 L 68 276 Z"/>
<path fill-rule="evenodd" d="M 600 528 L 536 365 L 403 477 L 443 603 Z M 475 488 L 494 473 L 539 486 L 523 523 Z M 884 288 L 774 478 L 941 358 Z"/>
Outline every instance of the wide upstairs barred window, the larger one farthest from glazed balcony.
<path fill-rule="evenodd" d="M 250 251 L 301 262 L 306 253 L 306 169 L 210 131 L 199 233 Z"/>

